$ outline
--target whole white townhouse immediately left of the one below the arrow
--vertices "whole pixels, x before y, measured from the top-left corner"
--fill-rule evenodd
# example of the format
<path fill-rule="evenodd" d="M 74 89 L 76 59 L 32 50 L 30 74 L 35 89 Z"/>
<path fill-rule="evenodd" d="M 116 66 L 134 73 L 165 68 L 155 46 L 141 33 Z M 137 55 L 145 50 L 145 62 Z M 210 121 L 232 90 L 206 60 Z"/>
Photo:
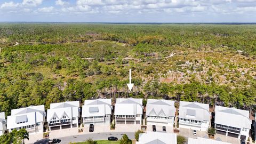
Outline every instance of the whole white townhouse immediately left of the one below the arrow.
<path fill-rule="evenodd" d="M 83 123 L 110 125 L 111 111 L 111 99 L 85 100 L 82 107 Z"/>

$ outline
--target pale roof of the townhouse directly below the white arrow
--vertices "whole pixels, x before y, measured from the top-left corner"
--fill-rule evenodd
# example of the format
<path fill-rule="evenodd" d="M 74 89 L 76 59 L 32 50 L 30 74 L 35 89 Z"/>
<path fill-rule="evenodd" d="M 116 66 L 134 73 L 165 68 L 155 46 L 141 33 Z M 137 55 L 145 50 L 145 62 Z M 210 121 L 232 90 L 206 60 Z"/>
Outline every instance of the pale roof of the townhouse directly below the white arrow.
<path fill-rule="evenodd" d="M 142 99 L 116 99 L 115 115 L 142 115 Z"/>

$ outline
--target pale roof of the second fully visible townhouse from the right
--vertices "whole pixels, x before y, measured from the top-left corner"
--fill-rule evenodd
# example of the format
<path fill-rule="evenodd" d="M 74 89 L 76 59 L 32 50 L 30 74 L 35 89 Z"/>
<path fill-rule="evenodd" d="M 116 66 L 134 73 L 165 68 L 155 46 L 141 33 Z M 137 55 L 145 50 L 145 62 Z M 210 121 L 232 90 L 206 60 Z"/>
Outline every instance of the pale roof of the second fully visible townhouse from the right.
<path fill-rule="evenodd" d="M 210 121 L 209 105 L 198 102 L 180 101 L 179 118 Z"/>

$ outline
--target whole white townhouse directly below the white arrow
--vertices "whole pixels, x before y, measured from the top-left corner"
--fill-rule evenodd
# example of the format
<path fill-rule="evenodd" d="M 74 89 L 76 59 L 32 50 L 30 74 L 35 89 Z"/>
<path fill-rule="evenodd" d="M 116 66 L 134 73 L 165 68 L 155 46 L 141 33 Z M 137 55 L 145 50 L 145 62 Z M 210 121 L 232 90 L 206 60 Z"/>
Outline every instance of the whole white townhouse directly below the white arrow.
<path fill-rule="evenodd" d="M 142 99 L 116 99 L 116 124 L 141 124 L 142 114 Z"/>

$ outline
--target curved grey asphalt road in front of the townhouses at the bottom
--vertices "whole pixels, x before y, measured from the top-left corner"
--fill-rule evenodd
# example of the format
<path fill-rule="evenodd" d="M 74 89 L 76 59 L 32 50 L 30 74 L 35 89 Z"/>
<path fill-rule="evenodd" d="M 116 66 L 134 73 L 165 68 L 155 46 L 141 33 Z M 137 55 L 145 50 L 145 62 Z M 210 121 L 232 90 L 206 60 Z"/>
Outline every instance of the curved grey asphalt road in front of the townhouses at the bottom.
<path fill-rule="evenodd" d="M 82 134 L 82 135 L 73 135 L 70 137 L 63 137 L 59 138 L 61 139 L 61 143 L 69 143 L 69 142 L 81 142 L 81 141 L 86 141 L 89 138 L 92 138 L 93 140 L 107 140 L 108 137 L 117 137 L 118 140 L 123 137 L 122 132 L 113 132 L 113 133 L 89 133 L 89 134 Z M 135 139 L 134 138 L 134 132 L 125 132 L 125 134 L 130 138 L 130 139 Z"/>

